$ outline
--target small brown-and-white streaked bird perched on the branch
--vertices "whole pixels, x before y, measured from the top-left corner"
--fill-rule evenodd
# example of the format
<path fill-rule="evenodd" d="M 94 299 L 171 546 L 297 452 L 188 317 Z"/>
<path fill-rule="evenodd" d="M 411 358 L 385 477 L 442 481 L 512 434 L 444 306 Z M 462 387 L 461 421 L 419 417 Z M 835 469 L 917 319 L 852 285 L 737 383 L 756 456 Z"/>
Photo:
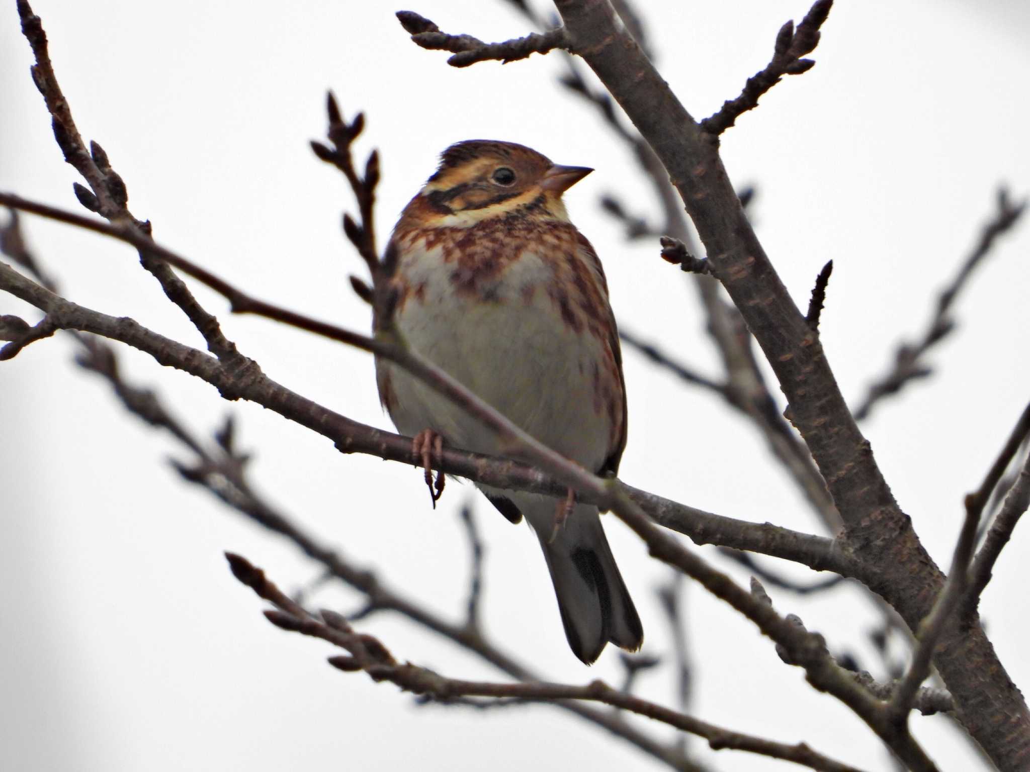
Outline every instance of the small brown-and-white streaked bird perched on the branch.
<path fill-rule="evenodd" d="M 626 395 L 604 270 L 561 195 L 592 169 L 560 166 L 513 142 L 467 140 L 440 156 L 384 256 L 374 326 L 447 372 L 552 450 L 614 476 L 626 445 Z M 387 318 L 384 318 L 388 316 Z M 444 443 L 504 455 L 496 435 L 382 357 L 380 400 L 413 453 Z M 442 492 L 438 475 L 435 499 Z M 638 651 L 640 617 L 597 506 L 477 484 L 540 541 L 570 648 L 592 664 L 609 643 Z"/>

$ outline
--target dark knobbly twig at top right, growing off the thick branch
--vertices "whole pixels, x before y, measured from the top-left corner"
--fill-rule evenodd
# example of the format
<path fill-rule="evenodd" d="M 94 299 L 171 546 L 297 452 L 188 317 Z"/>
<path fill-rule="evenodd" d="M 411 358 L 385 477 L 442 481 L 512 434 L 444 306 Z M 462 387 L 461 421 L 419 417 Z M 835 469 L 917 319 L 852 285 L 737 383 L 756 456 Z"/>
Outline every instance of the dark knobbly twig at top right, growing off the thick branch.
<path fill-rule="evenodd" d="M 820 27 L 829 15 L 833 0 L 816 0 L 801 24 L 794 30 L 794 23 L 787 22 L 776 36 L 772 59 L 765 69 L 748 78 L 744 91 L 736 99 L 726 102 L 715 115 L 700 121 L 702 131 L 714 136 L 733 126 L 736 118 L 758 106 L 758 98 L 780 82 L 784 75 L 800 75 L 815 66 L 811 59 L 801 59 L 819 44 Z"/>

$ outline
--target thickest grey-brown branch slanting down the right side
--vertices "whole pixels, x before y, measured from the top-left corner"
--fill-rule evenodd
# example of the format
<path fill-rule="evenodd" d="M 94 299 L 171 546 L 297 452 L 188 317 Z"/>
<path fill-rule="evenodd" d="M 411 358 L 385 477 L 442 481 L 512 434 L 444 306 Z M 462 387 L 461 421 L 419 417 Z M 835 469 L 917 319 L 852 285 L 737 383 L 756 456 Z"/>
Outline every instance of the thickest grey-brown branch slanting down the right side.
<path fill-rule="evenodd" d="M 780 281 L 740 206 L 710 135 L 620 30 L 602 0 L 556 0 L 582 56 L 661 159 L 723 283 L 762 347 L 791 418 L 826 481 L 856 557 L 883 567 L 866 577 L 915 629 L 943 576 L 900 512 L 858 430 L 818 337 Z M 962 723 L 995 764 L 1030 760 L 1030 713 L 977 625 L 949 626 L 935 662 Z M 984 673 L 988 675 L 986 678 Z M 1002 721 L 988 716 L 1004 716 Z"/>

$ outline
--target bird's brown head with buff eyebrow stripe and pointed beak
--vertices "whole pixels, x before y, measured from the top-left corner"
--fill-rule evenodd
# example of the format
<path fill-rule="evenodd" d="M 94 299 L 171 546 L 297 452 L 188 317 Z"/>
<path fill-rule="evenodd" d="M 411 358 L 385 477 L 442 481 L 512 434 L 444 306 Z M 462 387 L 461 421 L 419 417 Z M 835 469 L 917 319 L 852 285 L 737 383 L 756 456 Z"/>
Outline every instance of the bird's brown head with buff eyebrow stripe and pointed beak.
<path fill-rule="evenodd" d="M 513 142 L 468 140 L 444 150 L 409 209 L 432 224 L 457 227 L 501 216 L 568 220 L 561 194 L 591 171 L 552 164 Z"/>

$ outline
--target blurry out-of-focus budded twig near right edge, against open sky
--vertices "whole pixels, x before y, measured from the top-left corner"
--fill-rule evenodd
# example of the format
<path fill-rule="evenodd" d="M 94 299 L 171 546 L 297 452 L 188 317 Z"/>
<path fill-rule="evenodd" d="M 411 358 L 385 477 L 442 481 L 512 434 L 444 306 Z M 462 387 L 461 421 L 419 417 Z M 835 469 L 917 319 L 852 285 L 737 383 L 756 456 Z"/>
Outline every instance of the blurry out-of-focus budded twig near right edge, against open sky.
<path fill-rule="evenodd" d="M 930 375 L 931 370 L 923 363 L 923 356 L 955 329 L 955 321 L 949 314 L 955 299 L 968 285 L 972 272 L 990 254 L 998 237 L 1016 225 L 1026 206 L 1026 200 L 1018 204 L 1010 202 L 1004 187 L 998 190 L 994 216 L 984 224 L 976 246 L 952 281 L 937 295 L 933 316 L 922 337 L 915 343 L 902 342 L 898 346 L 891 370 L 872 382 L 865 398 L 855 409 L 856 420 L 867 418 L 873 407 L 885 396 L 896 394 L 911 381 Z"/>

